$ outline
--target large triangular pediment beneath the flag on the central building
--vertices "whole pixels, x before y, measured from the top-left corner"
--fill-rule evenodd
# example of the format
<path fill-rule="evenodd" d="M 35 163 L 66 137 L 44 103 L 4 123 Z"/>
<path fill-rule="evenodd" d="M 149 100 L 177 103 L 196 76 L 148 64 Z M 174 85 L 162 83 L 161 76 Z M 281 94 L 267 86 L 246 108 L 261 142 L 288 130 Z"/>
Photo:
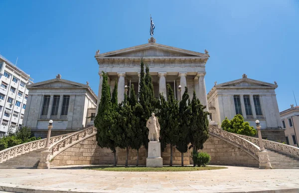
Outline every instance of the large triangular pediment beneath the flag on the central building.
<path fill-rule="evenodd" d="M 96 54 L 98 57 L 203 57 L 208 58 L 208 54 L 180 49 L 167 45 L 148 43 L 111 51 L 102 54 Z"/>

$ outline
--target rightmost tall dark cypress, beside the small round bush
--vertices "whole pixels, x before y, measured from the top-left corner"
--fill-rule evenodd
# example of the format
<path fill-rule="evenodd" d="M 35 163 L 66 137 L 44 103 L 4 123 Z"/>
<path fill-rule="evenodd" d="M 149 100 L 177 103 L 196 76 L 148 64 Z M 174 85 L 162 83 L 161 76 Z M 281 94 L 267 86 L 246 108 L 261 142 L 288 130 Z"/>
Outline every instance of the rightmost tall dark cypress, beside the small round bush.
<path fill-rule="evenodd" d="M 199 99 L 196 98 L 195 91 L 193 92 L 191 108 L 192 116 L 190 119 L 189 138 L 192 144 L 194 154 L 197 153 L 197 150 L 203 149 L 204 142 L 209 138 L 209 121 L 207 118 L 208 112 L 204 111 L 206 106 L 200 104 Z M 193 163 L 193 166 L 195 167 L 195 163 Z"/>

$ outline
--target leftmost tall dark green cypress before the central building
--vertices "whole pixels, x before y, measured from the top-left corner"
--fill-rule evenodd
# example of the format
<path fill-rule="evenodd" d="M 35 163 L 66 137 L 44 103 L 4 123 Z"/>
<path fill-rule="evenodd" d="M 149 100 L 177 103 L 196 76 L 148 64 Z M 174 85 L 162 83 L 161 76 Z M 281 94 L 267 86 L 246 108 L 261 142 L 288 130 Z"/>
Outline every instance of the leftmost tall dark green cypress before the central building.
<path fill-rule="evenodd" d="M 102 71 L 102 97 L 99 103 L 98 114 L 94 120 L 97 128 L 97 142 L 101 148 L 109 148 L 113 152 L 114 166 L 116 166 L 116 143 L 111 139 L 111 129 L 115 124 L 116 111 L 113 108 L 108 85 L 108 75 Z M 116 89 L 114 89 L 116 90 Z"/>

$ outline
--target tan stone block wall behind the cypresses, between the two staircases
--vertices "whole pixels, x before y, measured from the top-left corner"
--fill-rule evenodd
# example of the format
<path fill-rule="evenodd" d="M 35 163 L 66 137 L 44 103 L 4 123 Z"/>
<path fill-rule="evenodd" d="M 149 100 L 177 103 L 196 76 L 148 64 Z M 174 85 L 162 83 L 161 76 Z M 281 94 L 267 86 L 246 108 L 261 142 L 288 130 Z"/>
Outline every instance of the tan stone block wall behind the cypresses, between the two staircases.
<path fill-rule="evenodd" d="M 173 147 L 173 165 L 181 165 L 181 153 Z M 217 137 L 211 136 L 204 143 L 203 152 L 211 155 L 212 165 L 232 165 L 258 167 L 259 162 L 247 154 L 247 152 Z M 184 165 L 193 164 L 190 157 L 192 149 L 184 153 Z M 125 165 L 126 149 L 117 149 L 117 164 Z M 170 163 L 170 147 L 162 152 L 163 165 Z M 137 151 L 129 150 L 129 165 L 136 165 Z M 146 165 L 147 150 L 142 147 L 139 150 L 139 165 Z M 100 148 L 97 145 L 96 137 L 92 136 L 57 155 L 51 162 L 51 167 L 65 165 L 89 165 L 89 164 L 113 164 L 113 153 L 110 149 Z"/>

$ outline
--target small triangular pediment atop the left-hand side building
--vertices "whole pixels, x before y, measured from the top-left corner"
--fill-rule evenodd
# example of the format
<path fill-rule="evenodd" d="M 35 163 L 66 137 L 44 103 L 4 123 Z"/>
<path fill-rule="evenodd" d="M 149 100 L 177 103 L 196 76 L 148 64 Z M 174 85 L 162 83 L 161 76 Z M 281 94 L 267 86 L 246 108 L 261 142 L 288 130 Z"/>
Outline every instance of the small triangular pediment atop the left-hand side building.
<path fill-rule="evenodd" d="M 27 86 L 27 88 L 80 88 L 80 87 L 88 88 L 87 85 L 69 81 L 69 80 L 59 79 L 59 78 L 42 81 Z"/>

